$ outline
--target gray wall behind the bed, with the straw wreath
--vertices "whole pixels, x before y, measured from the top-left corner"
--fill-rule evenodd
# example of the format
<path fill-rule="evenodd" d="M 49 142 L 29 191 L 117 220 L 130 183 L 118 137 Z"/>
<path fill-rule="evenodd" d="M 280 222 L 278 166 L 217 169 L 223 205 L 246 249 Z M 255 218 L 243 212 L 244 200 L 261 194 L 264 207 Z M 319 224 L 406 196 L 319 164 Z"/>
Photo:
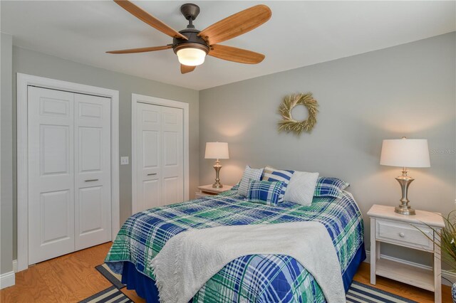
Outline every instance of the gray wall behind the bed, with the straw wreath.
<path fill-rule="evenodd" d="M 431 150 L 429 169 L 410 169 L 415 177 L 409 193 L 413 207 L 452 211 L 455 41 L 453 32 L 200 91 L 200 183 L 214 179 L 212 160 L 204 159 L 204 144 L 212 141 L 229 143 L 230 159 L 222 160 L 225 184 L 239 181 L 246 164 L 338 176 L 351 184 L 348 189 L 365 218 L 369 249 L 366 212 L 374 203 L 395 206 L 400 198 L 394 179 L 400 168 L 379 165 L 382 140 L 406 136 L 427 139 Z M 318 122 L 311 134 L 279 134 L 279 104 L 296 92 L 314 93 Z M 399 251 L 385 250 L 404 257 Z M 409 259 L 428 261 L 416 253 Z"/>

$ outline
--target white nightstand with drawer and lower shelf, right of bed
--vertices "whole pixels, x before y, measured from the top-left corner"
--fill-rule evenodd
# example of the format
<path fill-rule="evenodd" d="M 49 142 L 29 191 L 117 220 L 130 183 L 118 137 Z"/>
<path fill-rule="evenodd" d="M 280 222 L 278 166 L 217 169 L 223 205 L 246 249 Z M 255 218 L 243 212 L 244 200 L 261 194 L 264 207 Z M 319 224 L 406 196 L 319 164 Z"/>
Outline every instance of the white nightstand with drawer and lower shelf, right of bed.
<path fill-rule="evenodd" d="M 437 239 L 438 235 L 432 228 L 441 230 L 445 227 L 440 214 L 416 211 L 415 216 L 404 216 L 395 213 L 393 206 L 374 205 L 368 216 L 371 218 L 371 284 L 375 285 L 375 275 L 388 277 L 435 292 L 435 302 L 441 302 L 440 248 L 426 237 Z M 434 256 L 433 270 L 381 258 L 380 243 L 430 252 Z"/>

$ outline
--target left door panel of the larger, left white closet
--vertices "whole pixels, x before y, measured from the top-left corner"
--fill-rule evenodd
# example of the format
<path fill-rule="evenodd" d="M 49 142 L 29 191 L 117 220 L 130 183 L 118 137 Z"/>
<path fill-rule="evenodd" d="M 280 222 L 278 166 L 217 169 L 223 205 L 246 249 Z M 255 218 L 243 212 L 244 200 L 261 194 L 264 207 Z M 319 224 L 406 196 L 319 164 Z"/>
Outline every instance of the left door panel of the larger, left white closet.
<path fill-rule="evenodd" d="M 71 92 L 28 87 L 28 264 L 73 252 Z"/>

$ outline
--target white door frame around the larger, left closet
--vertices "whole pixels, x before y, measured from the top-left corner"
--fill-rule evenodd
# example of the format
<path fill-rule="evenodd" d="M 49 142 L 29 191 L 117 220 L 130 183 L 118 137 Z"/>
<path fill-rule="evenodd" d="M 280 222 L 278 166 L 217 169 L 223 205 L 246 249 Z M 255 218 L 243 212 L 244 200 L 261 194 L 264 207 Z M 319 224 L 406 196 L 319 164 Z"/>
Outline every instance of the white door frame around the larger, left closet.
<path fill-rule="evenodd" d="M 28 268 L 28 86 L 65 90 L 111 100 L 111 240 L 120 229 L 119 92 L 102 87 L 16 74 L 17 90 L 17 270 Z"/>

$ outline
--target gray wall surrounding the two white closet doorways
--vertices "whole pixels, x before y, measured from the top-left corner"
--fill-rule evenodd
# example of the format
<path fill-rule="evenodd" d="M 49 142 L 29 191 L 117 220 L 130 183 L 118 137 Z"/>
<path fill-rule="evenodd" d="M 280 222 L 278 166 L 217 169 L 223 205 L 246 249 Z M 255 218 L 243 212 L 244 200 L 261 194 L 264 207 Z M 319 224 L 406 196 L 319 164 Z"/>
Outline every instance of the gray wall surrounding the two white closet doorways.
<path fill-rule="evenodd" d="M 145 67 L 153 68 L 153 66 Z M 120 156 L 130 156 L 131 163 L 131 94 L 162 97 L 190 104 L 190 197 L 195 195 L 199 176 L 199 138 L 198 138 L 198 98 L 197 90 L 190 90 L 175 85 L 167 85 L 144 78 L 115 73 L 95 68 L 51 55 L 37 53 L 24 48 L 13 47 L 13 102 L 16 108 L 16 73 L 38 75 L 46 78 L 82 83 L 118 90 L 119 100 L 119 139 Z M 13 139 L 16 142 L 16 111 L 13 112 Z M 3 132 L 3 129 L 2 129 Z M 3 141 L 3 137 L 2 137 Z M 16 144 L 14 144 L 16 149 Z M 14 150 L 16 154 L 16 150 Z M 3 153 L 2 153 L 3 156 Z M 14 159 L 16 163 L 16 159 Z M 3 170 L 3 168 L 2 168 Z M 14 180 L 16 165 L 14 164 Z M 3 181 L 3 178 L 2 178 Z M 123 223 L 131 215 L 131 165 L 120 165 L 120 221 Z M 2 191 L 3 193 L 3 191 Z M 14 184 L 14 258 L 16 258 L 16 184 Z M 3 252 L 3 250 L 2 250 Z"/>

